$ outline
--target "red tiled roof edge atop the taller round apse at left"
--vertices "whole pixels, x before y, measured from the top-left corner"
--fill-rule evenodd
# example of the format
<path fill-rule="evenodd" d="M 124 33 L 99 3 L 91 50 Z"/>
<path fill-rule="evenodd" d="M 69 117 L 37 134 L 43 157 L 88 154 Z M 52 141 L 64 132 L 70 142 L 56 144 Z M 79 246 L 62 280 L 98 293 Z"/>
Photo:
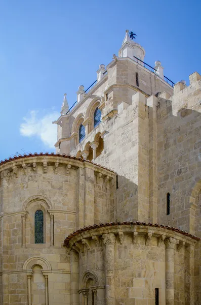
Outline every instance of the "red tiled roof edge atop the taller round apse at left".
<path fill-rule="evenodd" d="M 101 166 L 101 165 L 99 165 L 97 163 L 91 162 L 89 160 L 85 160 L 85 159 L 82 159 L 82 158 L 76 158 L 74 156 L 69 156 L 69 155 L 66 156 L 66 154 L 60 155 L 60 154 L 55 154 L 55 153 L 45 153 L 45 154 L 44 153 L 39 153 L 39 154 L 37 154 L 37 153 L 34 153 L 34 154 L 29 153 L 28 155 L 24 154 L 23 156 L 22 155 L 18 155 L 18 156 L 14 156 L 13 158 L 10 157 L 9 159 L 5 159 L 4 161 L 1 161 L 0 162 L 0 166 L 3 165 L 3 164 L 6 164 L 8 162 L 14 161 L 14 160 L 25 159 L 25 158 L 29 158 L 29 157 L 41 157 L 41 156 L 44 156 L 44 157 L 45 156 L 63 157 L 63 158 L 67 158 L 67 159 L 78 160 L 78 161 L 81 161 L 81 162 L 88 162 L 88 163 L 91 163 L 91 164 L 95 164 L 98 167 L 104 168 L 104 169 L 106 169 L 106 170 L 108 170 L 108 171 L 110 171 L 112 173 L 115 173 L 114 171 L 112 171 L 112 170 L 110 170 L 110 169 L 108 169 L 108 168 L 106 168 L 104 166 Z"/>

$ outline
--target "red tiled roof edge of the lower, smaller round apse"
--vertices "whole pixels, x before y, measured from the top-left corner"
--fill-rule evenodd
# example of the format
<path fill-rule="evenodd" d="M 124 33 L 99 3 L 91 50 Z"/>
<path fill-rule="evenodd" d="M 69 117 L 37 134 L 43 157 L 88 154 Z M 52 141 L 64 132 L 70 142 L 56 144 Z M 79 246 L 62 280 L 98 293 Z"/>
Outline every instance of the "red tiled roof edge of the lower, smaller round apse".
<path fill-rule="evenodd" d="M 163 228 L 163 229 L 168 229 L 168 230 L 171 230 L 171 231 L 175 231 L 175 232 L 178 232 L 178 233 L 181 233 L 185 236 L 188 236 L 192 239 L 196 239 L 196 240 L 200 240 L 199 237 L 197 236 L 194 236 L 194 235 L 191 235 L 183 230 L 179 230 L 178 228 L 174 228 L 174 227 L 170 227 L 170 226 L 165 226 L 165 225 L 159 225 L 159 224 L 152 224 L 152 223 L 146 223 L 146 222 L 139 222 L 139 221 L 124 221 L 124 222 L 110 222 L 110 223 L 105 223 L 105 224 L 98 224 L 98 225 L 93 225 L 93 226 L 88 226 L 88 227 L 84 227 L 83 229 L 79 229 L 79 230 L 76 230 L 75 232 L 69 234 L 65 240 L 64 240 L 64 245 L 63 246 L 68 246 L 68 243 L 69 243 L 69 240 L 71 238 L 73 238 L 75 235 L 79 234 L 79 233 L 82 233 L 84 231 L 88 231 L 88 230 L 91 230 L 91 229 L 97 229 L 97 228 L 101 228 L 101 227 L 109 227 L 109 226 L 119 226 L 119 225 L 140 225 L 140 226 L 150 226 L 150 227 L 156 227 L 156 228 Z"/>

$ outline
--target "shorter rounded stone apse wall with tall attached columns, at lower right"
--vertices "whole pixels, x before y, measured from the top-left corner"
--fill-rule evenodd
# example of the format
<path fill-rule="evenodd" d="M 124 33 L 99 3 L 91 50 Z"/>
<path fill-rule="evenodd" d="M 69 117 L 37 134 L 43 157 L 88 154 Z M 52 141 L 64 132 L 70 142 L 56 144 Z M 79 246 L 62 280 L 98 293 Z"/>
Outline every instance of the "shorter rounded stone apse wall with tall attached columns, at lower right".
<path fill-rule="evenodd" d="M 193 303 L 189 248 L 195 241 L 167 229 L 140 225 L 105 225 L 70 235 L 66 245 L 77 255 L 79 276 L 71 286 L 72 304 L 144 305 Z M 71 237 L 72 236 L 72 237 Z M 78 259 L 79 257 L 79 259 Z M 74 272 L 71 273 L 75 278 Z M 190 289 L 189 289 L 190 288 Z M 86 302 L 85 302 L 86 300 Z"/>

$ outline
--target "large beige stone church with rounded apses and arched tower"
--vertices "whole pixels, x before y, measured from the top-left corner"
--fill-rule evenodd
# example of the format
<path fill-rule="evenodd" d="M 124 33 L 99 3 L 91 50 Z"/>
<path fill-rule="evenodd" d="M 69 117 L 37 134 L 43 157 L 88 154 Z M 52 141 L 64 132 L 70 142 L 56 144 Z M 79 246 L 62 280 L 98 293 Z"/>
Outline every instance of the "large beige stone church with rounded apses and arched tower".
<path fill-rule="evenodd" d="M 0 162 L 1 304 L 201 304 L 201 76 L 144 56 L 127 30 L 56 154 Z"/>

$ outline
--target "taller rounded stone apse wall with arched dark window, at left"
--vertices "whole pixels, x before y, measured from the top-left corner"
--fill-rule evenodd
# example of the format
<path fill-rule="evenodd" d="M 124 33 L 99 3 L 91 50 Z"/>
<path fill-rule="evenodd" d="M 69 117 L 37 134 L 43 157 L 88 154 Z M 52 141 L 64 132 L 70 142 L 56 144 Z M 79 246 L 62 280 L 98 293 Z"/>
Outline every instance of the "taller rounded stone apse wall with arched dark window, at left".
<path fill-rule="evenodd" d="M 0 172 L 1 303 L 70 304 L 63 240 L 84 225 L 109 221 L 115 174 L 59 155 L 16 157 L 2 162 Z M 36 210 L 44 214 L 44 243 L 35 243 Z"/>

